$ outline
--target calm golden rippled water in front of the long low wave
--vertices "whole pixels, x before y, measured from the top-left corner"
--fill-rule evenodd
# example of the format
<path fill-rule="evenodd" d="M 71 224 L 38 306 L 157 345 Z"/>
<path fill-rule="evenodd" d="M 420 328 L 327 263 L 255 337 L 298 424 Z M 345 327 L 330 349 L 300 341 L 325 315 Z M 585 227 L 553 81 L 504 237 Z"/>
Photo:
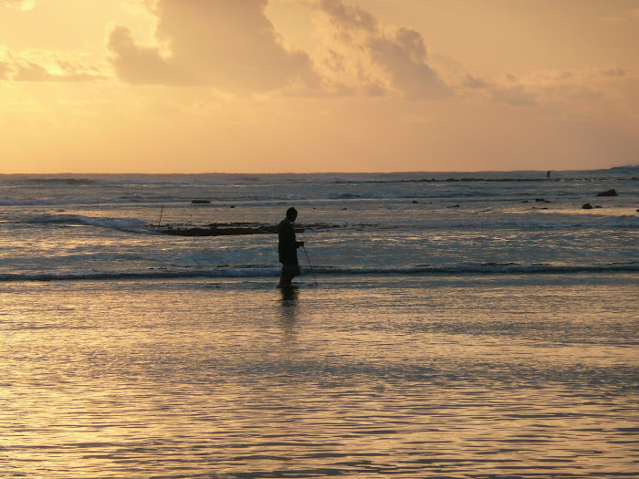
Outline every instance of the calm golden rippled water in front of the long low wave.
<path fill-rule="evenodd" d="M 394 281 L 3 286 L 0 476 L 638 472 L 627 277 Z"/>

